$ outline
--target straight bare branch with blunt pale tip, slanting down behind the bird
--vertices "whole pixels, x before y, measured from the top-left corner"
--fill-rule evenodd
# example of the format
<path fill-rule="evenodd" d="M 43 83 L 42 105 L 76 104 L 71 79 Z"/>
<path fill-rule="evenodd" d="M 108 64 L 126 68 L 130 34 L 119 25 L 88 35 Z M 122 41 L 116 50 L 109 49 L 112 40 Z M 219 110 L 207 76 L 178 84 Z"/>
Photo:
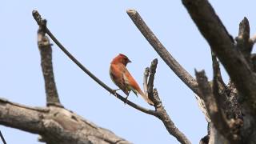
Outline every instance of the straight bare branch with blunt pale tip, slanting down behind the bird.
<path fill-rule="evenodd" d="M 166 62 L 171 70 L 194 91 L 198 94 L 198 84 L 195 79 L 173 58 L 173 56 L 166 50 L 165 46 L 158 40 L 154 33 L 150 30 L 146 23 L 143 21 L 142 17 L 138 14 L 136 10 L 127 10 L 127 14 L 133 20 L 134 24 L 138 27 L 138 30 L 144 35 L 146 40 L 150 42 L 154 50 L 160 55 L 160 57 Z"/>

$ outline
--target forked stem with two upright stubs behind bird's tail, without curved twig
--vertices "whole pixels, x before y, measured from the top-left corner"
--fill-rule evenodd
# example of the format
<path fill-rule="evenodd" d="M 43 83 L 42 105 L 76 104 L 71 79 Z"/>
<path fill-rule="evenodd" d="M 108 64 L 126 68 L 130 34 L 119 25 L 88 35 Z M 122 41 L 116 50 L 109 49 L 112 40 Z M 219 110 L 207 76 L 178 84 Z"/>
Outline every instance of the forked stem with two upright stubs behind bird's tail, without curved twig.
<path fill-rule="evenodd" d="M 189 139 L 186 138 L 186 135 L 183 134 L 178 128 L 174 125 L 174 122 L 170 119 L 170 116 L 167 114 L 164 106 L 162 106 L 162 101 L 158 96 L 158 90 L 153 89 L 154 87 L 154 74 L 156 73 L 156 68 L 158 65 L 158 59 L 155 58 L 151 62 L 150 71 L 146 68 L 144 72 L 144 82 L 147 82 L 148 76 L 149 82 L 145 86 L 147 88 L 149 98 L 154 102 L 154 108 L 157 113 L 157 118 L 159 118 L 162 123 L 166 126 L 166 130 L 173 135 L 177 140 L 183 144 L 189 144 Z M 150 74 L 149 74 L 150 72 Z"/>

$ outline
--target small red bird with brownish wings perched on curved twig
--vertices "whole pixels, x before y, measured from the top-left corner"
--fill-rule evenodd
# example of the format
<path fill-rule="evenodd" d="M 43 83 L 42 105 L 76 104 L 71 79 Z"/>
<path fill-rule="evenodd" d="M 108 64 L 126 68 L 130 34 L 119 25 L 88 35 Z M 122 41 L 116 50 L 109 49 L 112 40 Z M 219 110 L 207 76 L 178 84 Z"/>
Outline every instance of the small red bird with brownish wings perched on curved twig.
<path fill-rule="evenodd" d="M 138 83 L 126 69 L 126 65 L 129 62 L 130 59 L 127 58 L 126 55 L 118 54 L 118 56 L 115 57 L 110 63 L 110 78 L 114 84 L 127 95 L 126 100 L 130 94 L 130 90 L 132 90 L 134 94 L 140 94 L 142 98 L 144 98 L 144 100 L 150 105 L 154 105 L 148 96 L 142 92 L 141 88 L 138 86 Z"/>

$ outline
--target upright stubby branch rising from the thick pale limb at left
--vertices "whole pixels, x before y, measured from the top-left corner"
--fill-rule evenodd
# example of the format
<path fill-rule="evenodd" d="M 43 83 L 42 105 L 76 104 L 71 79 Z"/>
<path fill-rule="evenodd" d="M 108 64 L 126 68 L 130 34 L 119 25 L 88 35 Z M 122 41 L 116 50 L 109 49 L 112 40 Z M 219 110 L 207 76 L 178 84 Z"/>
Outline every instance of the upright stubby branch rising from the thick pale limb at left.
<path fill-rule="evenodd" d="M 47 106 L 62 106 L 58 98 L 57 87 L 54 82 L 54 70 L 52 64 L 52 49 L 49 38 L 45 33 L 46 20 L 38 30 L 38 48 L 41 55 L 42 74 L 45 79 Z"/>

